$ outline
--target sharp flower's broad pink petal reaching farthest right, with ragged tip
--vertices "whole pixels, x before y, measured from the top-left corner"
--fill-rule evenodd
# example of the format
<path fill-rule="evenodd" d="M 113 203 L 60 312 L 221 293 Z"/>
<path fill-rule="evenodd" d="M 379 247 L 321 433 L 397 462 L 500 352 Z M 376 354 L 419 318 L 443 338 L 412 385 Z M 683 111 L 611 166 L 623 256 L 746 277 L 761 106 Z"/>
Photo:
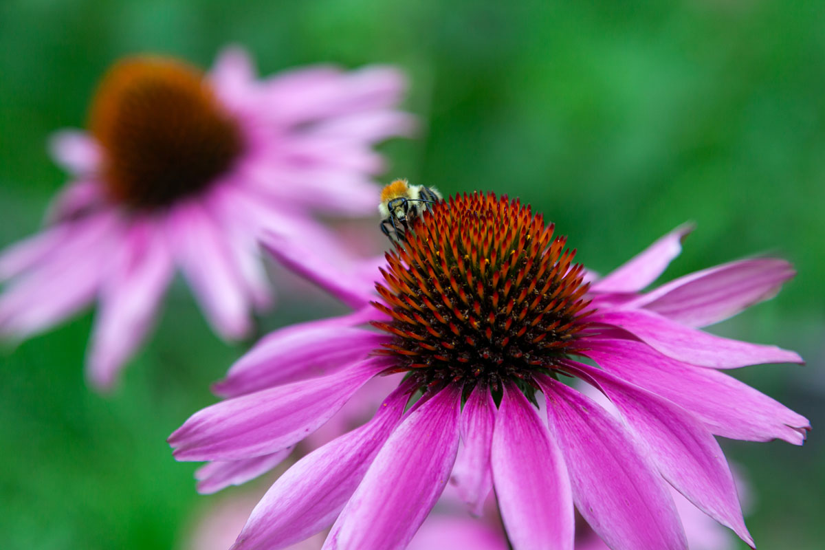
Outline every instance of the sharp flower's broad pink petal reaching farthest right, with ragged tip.
<path fill-rule="evenodd" d="M 588 340 L 583 353 L 629 383 L 690 411 L 714 435 L 802 444 L 810 429 L 804 416 L 736 378 L 672 360 L 641 342 Z"/>

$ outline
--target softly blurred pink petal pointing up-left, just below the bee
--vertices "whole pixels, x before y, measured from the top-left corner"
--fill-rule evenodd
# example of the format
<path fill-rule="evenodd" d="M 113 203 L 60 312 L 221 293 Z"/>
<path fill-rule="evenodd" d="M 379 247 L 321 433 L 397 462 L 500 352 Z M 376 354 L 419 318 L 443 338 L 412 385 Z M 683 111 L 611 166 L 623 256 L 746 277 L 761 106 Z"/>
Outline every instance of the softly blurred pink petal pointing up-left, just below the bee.
<path fill-rule="evenodd" d="M 300 247 L 294 240 L 277 233 L 265 233 L 262 241 L 278 261 L 312 281 L 353 309 L 363 308 L 375 299 L 373 285 L 351 270 L 331 270 L 330 264 L 316 251 Z"/>

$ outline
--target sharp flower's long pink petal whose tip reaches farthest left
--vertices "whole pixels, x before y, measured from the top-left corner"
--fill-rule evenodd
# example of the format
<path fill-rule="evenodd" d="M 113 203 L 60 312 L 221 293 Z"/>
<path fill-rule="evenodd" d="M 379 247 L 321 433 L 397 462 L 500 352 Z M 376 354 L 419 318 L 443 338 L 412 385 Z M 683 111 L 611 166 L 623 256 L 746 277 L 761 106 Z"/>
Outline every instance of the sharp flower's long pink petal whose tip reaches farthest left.
<path fill-rule="evenodd" d="M 317 430 L 375 374 L 370 358 L 320 378 L 215 403 L 190 416 L 167 440 L 178 460 L 240 460 L 271 454 Z"/>

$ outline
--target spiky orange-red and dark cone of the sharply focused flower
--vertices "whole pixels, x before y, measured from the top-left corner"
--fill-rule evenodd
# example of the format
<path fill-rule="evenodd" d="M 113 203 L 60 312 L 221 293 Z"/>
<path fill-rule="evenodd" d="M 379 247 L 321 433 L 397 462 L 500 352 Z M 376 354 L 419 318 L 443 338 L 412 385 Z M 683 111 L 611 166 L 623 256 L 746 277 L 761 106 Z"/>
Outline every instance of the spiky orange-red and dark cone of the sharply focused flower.
<path fill-rule="evenodd" d="M 379 353 L 422 386 L 523 386 L 576 350 L 589 300 L 566 237 L 519 200 L 493 193 L 432 205 L 376 284 L 394 335 Z"/>

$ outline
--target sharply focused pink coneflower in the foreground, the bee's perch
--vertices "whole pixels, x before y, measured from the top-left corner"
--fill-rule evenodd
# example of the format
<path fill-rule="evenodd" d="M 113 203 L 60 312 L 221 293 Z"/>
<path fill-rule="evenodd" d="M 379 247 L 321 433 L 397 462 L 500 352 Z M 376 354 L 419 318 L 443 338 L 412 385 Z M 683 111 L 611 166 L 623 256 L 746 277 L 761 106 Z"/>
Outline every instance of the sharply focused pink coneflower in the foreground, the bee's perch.
<path fill-rule="evenodd" d="M 668 483 L 752 544 L 714 435 L 801 444 L 809 424 L 721 369 L 799 355 L 696 327 L 775 294 L 790 266 L 742 261 L 639 294 L 680 229 L 591 291 L 565 239 L 518 201 L 465 195 L 430 212 L 388 254 L 374 312 L 269 336 L 292 339 L 288 357 L 272 346 L 264 359 L 265 341 L 217 387 L 230 398 L 170 436 L 180 460 L 242 465 L 302 440 L 370 378 L 405 374 L 371 421 L 276 481 L 233 548 L 285 548 L 329 524 L 324 548 L 404 548 L 460 441 L 464 499 L 477 509 L 494 487 L 519 550 L 573 548 L 574 505 L 614 550 L 686 548 Z M 379 331 L 355 326 L 365 318 Z"/>

